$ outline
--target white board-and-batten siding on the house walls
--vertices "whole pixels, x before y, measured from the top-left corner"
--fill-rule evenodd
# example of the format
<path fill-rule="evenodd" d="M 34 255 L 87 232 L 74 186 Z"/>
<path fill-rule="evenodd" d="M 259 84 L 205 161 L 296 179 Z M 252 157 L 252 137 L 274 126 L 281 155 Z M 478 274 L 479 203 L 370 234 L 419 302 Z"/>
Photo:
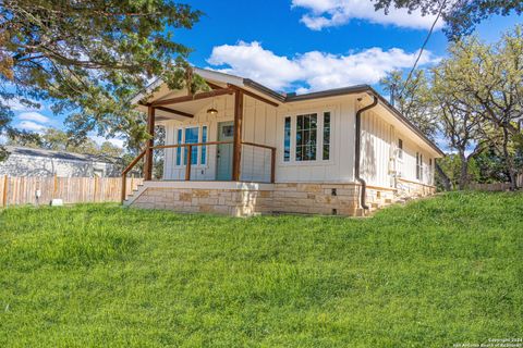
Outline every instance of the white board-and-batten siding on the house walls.
<path fill-rule="evenodd" d="M 354 183 L 354 132 L 356 97 L 344 96 L 328 100 L 296 102 L 282 104 L 279 108 L 245 97 L 243 119 L 243 141 L 268 145 L 277 148 L 276 182 L 277 183 Z M 207 109 L 214 107 L 217 115 L 208 115 Z M 360 107 L 360 105 L 357 105 Z M 296 115 L 324 112 L 331 114 L 331 147 L 328 161 L 293 161 L 295 132 L 291 134 L 291 161 L 283 161 L 284 120 L 288 116 L 295 122 Z M 362 115 L 362 177 L 368 185 L 394 187 L 393 173 L 400 177 L 416 179 L 416 152 L 423 154 L 423 181 L 433 185 L 434 170 L 429 167 L 430 156 L 428 146 L 417 144 L 410 132 L 400 132 L 389 123 L 384 111 L 367 111 Z M 207 141 L 218 140 L 218 123 L 232 122 L 234 119 L 234 97 L 215 98 L 203 107 L 194 119 L 186 121 L 162 121 L 166 127 L 166 144 L 175 144 L 177 129 L 186 126 L 206 125 Z M 295 124 L 293 124 L 293 128 Z M 320 141 L 318 129 L 318 141 Z M 398 139 L 403 140 L 403 160 L 398 160 Z M 232 147 L 232 145 L 230 145 Z M 195 181 L 216 179 L 217 146 L 207 147 L 207 163 L 192 165 L 191 178 Z M 183 181 L 185 166 L 175 165 L 175 149 L 165 150 L 163 178 Z M 321 152 L 317 153 L 318 158 Z M 241 181 L 268 182 L 270 178 L 270 150 L 244 145 L 242 147 Z"/>

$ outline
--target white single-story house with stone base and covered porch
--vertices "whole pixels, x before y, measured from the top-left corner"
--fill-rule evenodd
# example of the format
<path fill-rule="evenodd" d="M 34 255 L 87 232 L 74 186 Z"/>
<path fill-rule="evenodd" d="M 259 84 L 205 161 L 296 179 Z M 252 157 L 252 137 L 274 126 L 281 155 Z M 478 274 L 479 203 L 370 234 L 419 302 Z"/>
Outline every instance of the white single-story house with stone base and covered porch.
<path fill-rule="evenodd" d="M 195 73 L 210 91 L 187 95 L 158 80 L 133 99 L 149 133 L 162 125 L 166 139 L 148 140 L 136 159 L 145 158 L 145 183 L 122 192 L 126 206 L 363 215 L 435 192 L 443 153 L 372 87 L 282 95 L 248 78 Z M 158 154 L 162 178 L 153 181 Z"/>

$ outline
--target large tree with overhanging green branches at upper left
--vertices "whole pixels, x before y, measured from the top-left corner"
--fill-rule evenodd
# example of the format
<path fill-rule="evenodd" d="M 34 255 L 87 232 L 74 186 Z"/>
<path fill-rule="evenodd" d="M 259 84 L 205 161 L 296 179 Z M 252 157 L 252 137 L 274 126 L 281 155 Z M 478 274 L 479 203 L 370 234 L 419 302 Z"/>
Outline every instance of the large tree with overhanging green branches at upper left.
<path fill-rule="evenodd" d="M 89 132 L 147 137 L 130 98 L 151 78 L 191 91 L 191 50 L 172 40 L 200 16 L 171 0 L 4 0 L 0 2 L 0 133 L 10 126 L 9 101 L 42 100 L 68 113 L 75 139 Z"/>

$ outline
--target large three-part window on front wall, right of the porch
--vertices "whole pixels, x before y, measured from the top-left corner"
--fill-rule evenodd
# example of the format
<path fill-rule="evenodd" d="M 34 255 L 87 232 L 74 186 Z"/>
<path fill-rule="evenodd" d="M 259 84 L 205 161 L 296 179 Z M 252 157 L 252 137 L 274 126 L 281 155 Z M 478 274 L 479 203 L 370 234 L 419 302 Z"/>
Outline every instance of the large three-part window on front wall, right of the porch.
<path fill-rule="evenodd" d="M 330 111 L 285 116 L 283 120 L 283 162 L 330 160 L 331 129 Z"/>

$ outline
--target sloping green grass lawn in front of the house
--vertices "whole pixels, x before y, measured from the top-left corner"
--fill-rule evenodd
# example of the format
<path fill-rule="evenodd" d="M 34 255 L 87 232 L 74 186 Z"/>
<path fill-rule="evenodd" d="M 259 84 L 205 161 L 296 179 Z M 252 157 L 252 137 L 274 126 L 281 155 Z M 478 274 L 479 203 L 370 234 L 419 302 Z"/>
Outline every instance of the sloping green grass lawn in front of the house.
<path fill-rule="evenodd" d="M 0 213 L 0 347 L 452 347 L 523 336 L 523 195 L 372 219 Z"/>

